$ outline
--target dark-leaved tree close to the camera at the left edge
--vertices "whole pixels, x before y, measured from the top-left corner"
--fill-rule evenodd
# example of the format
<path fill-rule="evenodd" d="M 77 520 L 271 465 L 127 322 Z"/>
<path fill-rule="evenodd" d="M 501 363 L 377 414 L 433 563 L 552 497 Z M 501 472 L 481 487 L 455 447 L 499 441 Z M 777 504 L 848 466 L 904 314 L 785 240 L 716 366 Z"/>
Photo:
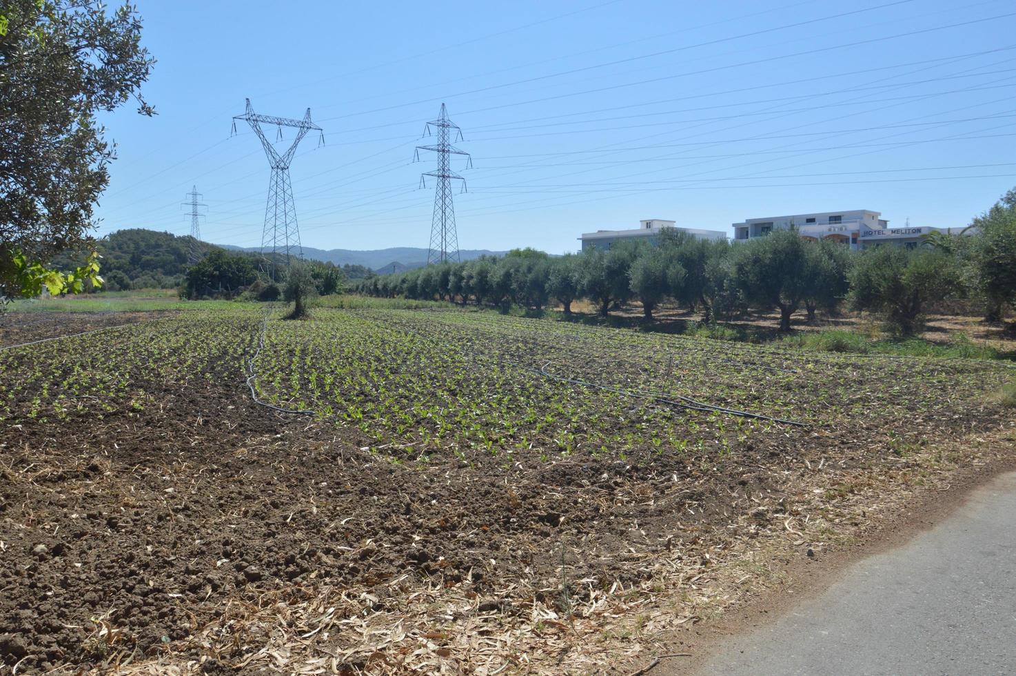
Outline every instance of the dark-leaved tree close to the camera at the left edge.
<path fill-rule="evenodd" d="M 96 120 L 139 94 L 153 63 L 130 5 L 7 0 L 0 5 L 0 296 L 74 291 L 80 276 L 43 266 L 91 248 L 92 206 L 115 146 Z M 94 262 L 92 260 L 91 262 Z M 101 282 L 91 266 L 77 270 Z"/>

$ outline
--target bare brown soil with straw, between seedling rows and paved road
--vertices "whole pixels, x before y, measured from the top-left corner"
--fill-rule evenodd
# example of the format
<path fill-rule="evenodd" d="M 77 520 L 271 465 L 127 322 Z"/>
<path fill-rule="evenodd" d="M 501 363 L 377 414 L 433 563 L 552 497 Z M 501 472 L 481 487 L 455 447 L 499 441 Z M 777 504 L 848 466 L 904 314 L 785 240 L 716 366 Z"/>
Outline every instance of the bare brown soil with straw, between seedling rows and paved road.
<path fill-rule="evenodd" d="M 877 430 L 848 426 L 748 458 L 407 467 L 361 450 L 366 439 L 350 428 L 258 407 L 235 363 L 212 371 L 196 389 L 147 383 L 140 412 L 0 430 L 0 665 L 631 664 L 646 655 L 634 637 L 694 624 L 754 589 L 729 581 L 746 551 L 786 536 L 780 556 L 824 553 L 832 536 L 816 529 L 837 509 L 877 502 L 878 481 L 927 478 L 924 456 L 891 455 Z M 936 429 L 960 439 L 1007 424 L 971 410 Z M 820 499 L 830 511 L 806 526 Z M 649 583 L 655 597 L 640 591 Z M 537 608 L 555 610 L 533 617 Z"/>

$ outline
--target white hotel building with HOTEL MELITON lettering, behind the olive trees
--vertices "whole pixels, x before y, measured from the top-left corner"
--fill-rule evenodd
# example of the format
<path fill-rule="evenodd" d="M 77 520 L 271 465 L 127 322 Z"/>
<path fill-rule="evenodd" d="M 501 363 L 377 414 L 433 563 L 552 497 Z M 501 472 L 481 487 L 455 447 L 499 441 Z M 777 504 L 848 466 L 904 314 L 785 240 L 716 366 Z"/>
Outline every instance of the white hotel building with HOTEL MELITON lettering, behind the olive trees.
<path fill-rule="evenodd" d="M 795 216 L 748 219 L 735 223 L 734 241 L 765 237 L 774 230 L 793 228 L 805 239 L 827 239 L 848 245 L 851 249 L 867 249 L 881 244 L 896 244 L 915 248 L 922 238 L 939 228 L 890 228 L 889 222 L 880 218 L 879 211 L 856 209 L 853 211 L 823 211 Z"/>

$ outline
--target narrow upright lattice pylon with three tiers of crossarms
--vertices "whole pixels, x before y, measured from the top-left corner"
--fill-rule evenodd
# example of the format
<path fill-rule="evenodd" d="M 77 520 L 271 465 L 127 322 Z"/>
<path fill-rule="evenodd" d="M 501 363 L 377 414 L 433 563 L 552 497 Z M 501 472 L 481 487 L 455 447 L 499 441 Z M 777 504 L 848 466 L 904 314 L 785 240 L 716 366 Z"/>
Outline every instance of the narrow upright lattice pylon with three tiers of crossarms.
<path fill-rule="evenodd" d="M 469 153 L 451 144 L 450 130 L 455 130 L 456 141 L 462 140 L 462 130 L 448 119 L 448 111 L 445 110 L 444 104 L 441 104 L 441 114 L 438 119 L 432 120 L 424 126 L 424 134 L 429 136 L 432 127 L 436 127 L 438 130 L 438 142 L 435 145 L 418 145 L 414 155 L 415 160 L 420 160 L 421 150 L 433 150 L 438 153 L 437 170 L 420 175 L 420 185 L 425 188 L 427 187 L 427 176 L 433 176 L 438 180 L 437 188 L 434 191 L 431 245 L 427 251 L 428 265 L 453 259 L 459 260 L 458 233 L 455 231 L 455 205 L 452 203 L 451 182 L 453 179 L 461 181 L 461 192 L 465 192 L 465 179 L 451 171 L 451 156 L 464 155 L 466 158 L 465 168 L 472 167 L 472 158 L 469 157 Z"/>

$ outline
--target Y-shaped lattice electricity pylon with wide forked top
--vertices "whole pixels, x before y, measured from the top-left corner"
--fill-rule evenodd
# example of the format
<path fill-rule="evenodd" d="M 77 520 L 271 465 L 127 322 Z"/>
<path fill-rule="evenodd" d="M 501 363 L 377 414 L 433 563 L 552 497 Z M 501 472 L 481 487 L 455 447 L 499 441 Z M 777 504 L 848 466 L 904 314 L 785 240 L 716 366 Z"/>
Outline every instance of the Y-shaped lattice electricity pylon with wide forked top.
<path fill-rule="evenodd" d="M 268 202 L 264 210 L 264 231 L 261 233 L 261 255 L 265 258 L 265 271 L 272 280 L 276 279 L 276 265 L 279 259 L 289 268 L 293 256 L 303 258 L 304 250 L 300 245 L 300 230 L 297 228 L 297 209 L 293 203 L 293 184 L 290 181 L 290 163 L 297 151 L 297 145 L 304 139 L 307 132 L 316 129 L 321 132 L 318 146 L 324 143 L 324 131 L 311 122 L 311 109 L 307 109 L 302 120 L 291 120 L 284 117 L 258 115 L 247 100 L 247 112 L 233 118 L 233 133 L 237 131 L 237 120 L 245 120 L 261 139 L 264 153 L 268 156 L 271 165 L 271 179 L 268 182 Z M 297 136 L 285 152 L 279 153 L 271 142 L 265 138 L 261 124 L 273 124 L 278 129 L 275 140 L 282 138 L 282 127 L 296 127 Z"/>

